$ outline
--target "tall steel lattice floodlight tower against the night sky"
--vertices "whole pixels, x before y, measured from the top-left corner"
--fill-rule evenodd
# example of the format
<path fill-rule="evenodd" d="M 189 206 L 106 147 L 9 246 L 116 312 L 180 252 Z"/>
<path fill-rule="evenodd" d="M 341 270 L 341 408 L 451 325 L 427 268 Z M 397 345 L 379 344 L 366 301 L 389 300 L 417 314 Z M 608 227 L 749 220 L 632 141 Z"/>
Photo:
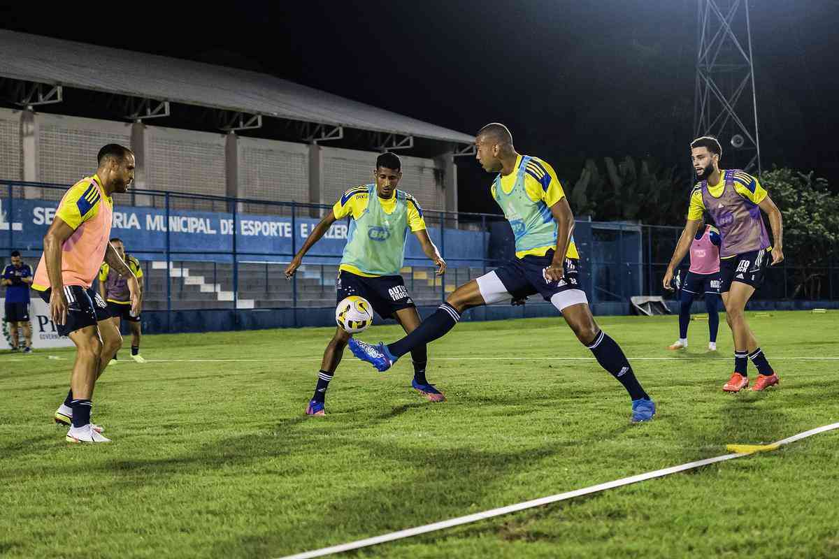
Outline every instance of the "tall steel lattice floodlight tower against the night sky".
<path fill-rule="evenodd" d="M 760 167 L 748 0 L 697 0 L 696 136 L 719 138 L 727 166 Z"/>

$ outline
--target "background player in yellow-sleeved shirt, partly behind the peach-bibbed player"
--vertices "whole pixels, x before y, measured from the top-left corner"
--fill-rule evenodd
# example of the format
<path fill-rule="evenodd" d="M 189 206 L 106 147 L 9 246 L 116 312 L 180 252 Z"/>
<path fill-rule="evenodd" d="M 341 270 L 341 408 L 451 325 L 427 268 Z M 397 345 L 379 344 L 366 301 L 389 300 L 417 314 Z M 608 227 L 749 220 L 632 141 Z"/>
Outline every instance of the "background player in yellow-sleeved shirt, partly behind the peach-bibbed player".
<path fill-rule="evenodd" d="M 128 265 L 134 277 L 137 278 L 140 287 L 140 306 L 142 307 L 143 268 L 140 267 L 140 261 L 126 254 L 125 245 L 117 237 L 111 239 L 111 246 L 117 251 L 122 261 Z M 131 292 L 128 290 L 128 278 L 122 277 L 116 270 L 112 270 L 107 262 L 103 263 L 99 269 L 99 294 L 107 301 L 108 313 L 111 313 L 113 325 L 117 327 L 117 330 L 119 330 L 122 320 L 128 321 L 128 327 L 131 329 L 131 359 L 138 363 L 145 363 L 146 360 L 140 355 L 140 308 L 138 308 L 137 314 L 131 311 Z M 113 355 L 112 362 L 117 362 L 117 354 Z"/>

